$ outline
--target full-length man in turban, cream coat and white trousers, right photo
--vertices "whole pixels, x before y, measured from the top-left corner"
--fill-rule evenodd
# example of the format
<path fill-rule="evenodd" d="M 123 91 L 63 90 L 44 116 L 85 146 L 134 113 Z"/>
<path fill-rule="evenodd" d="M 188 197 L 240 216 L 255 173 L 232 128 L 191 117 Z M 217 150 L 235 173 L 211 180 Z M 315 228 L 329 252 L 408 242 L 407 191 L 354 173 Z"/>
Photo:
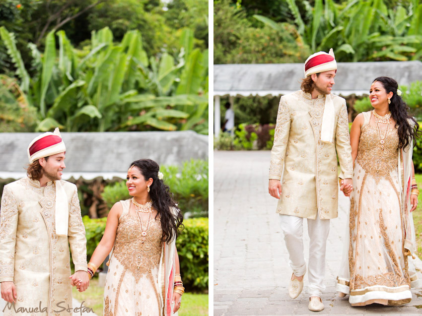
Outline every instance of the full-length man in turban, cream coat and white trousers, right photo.
<path fill-rule="evenodd" d="M 324 309 L 325 253 L 330 219 L 337 217 L 338 185 L 346 196 L 352 189 L 352 149 L 346 100 L 331 94 L 337 63 L 333 50 L 319 52 L 305 62 L 301 90 L 280 99 L 271 150 L 269 193 L 278 198 L 281 231 L 293 270 L 289 296 L 303 288 L 303 218 L 309 245 L 308 308 Z M 341 172 L 337 172 L 337 156 Z M 282 177 L 282 182 L 281 181 Z"/>

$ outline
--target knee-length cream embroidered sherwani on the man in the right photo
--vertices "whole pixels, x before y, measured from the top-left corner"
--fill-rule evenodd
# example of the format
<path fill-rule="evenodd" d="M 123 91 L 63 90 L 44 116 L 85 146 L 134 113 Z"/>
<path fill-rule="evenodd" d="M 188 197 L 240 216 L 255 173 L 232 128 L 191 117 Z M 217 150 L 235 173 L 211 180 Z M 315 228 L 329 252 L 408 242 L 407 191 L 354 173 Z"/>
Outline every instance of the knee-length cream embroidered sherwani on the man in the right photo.
<path fill-rule="evenodd" d="M 315 219 L 336 218 L 338 177 L 352 178 L 352 148 L 346 100 L 329 94 L 335 110 L 333 143 L 321 141 L 325 96 L 312 100 L 296 91 L 280 99 L 269 179 L 281 180 L 280 214 Z M 341 173 L 337 172 L 337 156 Z"/>

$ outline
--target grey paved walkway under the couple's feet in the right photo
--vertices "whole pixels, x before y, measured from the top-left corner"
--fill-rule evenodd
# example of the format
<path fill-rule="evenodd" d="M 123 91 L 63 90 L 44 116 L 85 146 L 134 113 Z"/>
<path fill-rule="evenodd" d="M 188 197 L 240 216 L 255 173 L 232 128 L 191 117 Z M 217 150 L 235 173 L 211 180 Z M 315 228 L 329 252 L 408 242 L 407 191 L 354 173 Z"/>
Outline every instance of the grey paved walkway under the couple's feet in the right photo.
<path fill-rule="evenodd" d="M 335 279 L 349 207 L 343 193 L 327 243 L 325 309 L 308 310 L 307 275 L 302 294 L 291 300 L 287 293 L 291 269 L 275 213 L 277 200 L 268 193 L 269 164 L 269 151 L 214 151 L 214 315 L 422 314 L 422 288 L 412 289 L 412 302 L 402 307 L 351 307 L 349 297 L 337 297 Z M 306 224 L 304 228 L 307 260 Z M 416 264 L 422 268 L 421 260 Z"/>

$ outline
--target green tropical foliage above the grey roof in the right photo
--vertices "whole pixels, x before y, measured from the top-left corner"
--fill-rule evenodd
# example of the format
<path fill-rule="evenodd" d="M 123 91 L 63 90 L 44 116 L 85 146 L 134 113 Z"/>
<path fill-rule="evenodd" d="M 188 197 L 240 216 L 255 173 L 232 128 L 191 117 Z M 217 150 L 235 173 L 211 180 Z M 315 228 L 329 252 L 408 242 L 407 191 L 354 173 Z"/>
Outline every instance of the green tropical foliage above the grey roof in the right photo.
<path fill-rule="evenodd" d="M 234 13 L 221 15 L 222 11 Z M 220 28 L 230 25 L 231 20 L 236 21 L 235 25 Z M 240 50 L 252 25 L 261 32 L 271 28 L 281 37 L 294 34 L 298 46 L 312 52 L 334 48 L 339 62 L 422 60 L 421 20 L 419 0 L 218 0 L 214 1 L 214 56 L 219 58 L 218 63 L 239 63 L 230 55 L 224 58 L 225 39 L 232 41 L 230 51 Z M 226 37 L 219 36 L 220 29 Z M 268 44 L 274 37 L 268 38 Z M 247 44 L 254 47 L 260 41 L 256 36 Z M 263 49 L 263 53 L 271 52 L 271 47 Z M 279 48 L 279 52 L 284 55 L 283 49 Z M 296 60 L 297 56 L 292 56 L 289 62 Z M 263 62 L 279 61 L 258 60 Z"/>

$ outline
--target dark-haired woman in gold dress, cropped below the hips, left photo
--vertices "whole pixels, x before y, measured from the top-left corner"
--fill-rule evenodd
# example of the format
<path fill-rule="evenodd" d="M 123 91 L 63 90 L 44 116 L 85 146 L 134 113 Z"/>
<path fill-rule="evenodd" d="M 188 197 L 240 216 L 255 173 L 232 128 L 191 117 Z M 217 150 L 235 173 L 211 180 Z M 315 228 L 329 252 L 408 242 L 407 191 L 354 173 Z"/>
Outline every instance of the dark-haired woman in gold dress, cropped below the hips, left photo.
<path fill-rule="evenodd" d="M 184 287 L 176 250 L 183 217 L 151 159 L 134 161 L 126 186 L 133 197 L 113 205 L 88 262 L 91 278 L 113 248 L 104 315 L 177 315 Z"/>

